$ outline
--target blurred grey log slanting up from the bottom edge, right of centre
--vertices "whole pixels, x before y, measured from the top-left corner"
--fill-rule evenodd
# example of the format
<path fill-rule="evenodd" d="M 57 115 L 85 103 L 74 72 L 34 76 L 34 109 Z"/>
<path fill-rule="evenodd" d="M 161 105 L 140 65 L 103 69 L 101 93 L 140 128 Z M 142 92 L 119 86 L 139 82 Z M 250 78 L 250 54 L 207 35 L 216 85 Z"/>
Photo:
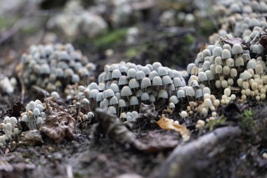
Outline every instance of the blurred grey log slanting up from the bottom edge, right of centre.
<path fill-rule="evenodd" d="M 222 127 L 188 144 L 178 145 L 150 177 L 202 177 L 200 172 L 204 174 L 203 170 L 209 170 L 217 156 L 237 144 L 241 134 L 238 127 Z"/>

